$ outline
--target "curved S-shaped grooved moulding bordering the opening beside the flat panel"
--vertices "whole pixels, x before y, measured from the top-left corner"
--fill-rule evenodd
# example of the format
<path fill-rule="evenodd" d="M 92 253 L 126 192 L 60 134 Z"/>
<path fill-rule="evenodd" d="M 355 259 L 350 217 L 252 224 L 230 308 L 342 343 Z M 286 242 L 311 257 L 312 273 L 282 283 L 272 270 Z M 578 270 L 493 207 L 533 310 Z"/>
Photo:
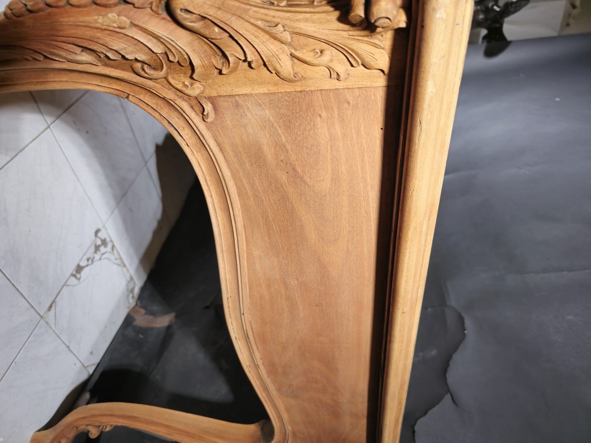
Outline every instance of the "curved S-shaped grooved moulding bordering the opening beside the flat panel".
<path fill-rule="evenodd" d="M 243 275 L 246 272 L 241 257 L 244 256 L 242 217 L 232 176 L 206 123 L 200 118 L 199 100 L 190 97 L 170 99 L 136 83 L 125 82 L 105 75 L 70 70 L 50 69 L 44 71 L 43 80 L 30 70 L 0 72 L 0 93 L 22 90 L 85 89 L 110 93 L 138 105 L 157 119 L 183 148 L 197 178 L 202 185 L 212 220 L 219 264 L 220 283 L 226 323 L 242 367 L 251 380 L 261 402 L 271 419 L 272 432 L 262 438 L 274 442 L 288 440 L 287 421 L 268 376 L 259 361 L 249 312 L 243 306 L 246 291 Z M 199 420 L 199 416 L 193 415 Z M 231 427 L 233 424 L 228 423 Z"/>

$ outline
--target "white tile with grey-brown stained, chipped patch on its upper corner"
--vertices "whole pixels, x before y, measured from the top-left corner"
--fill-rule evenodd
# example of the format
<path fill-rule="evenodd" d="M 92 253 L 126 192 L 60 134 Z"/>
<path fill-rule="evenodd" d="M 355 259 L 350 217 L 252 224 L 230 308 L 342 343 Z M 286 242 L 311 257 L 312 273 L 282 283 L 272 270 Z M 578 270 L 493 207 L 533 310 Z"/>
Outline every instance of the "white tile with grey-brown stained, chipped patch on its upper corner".
<path fill-rule="evenodd" d="M 136 294 L 134 278 L 102 230 L 44 318 L 90 366 L 105 353 Z"/>

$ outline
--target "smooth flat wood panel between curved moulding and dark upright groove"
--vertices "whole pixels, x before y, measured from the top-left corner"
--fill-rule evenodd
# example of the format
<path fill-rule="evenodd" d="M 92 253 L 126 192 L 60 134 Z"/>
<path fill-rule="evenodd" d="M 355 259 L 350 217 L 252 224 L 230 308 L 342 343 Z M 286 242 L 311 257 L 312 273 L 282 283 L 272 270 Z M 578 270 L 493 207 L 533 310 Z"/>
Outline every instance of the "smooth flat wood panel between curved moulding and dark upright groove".
<path fill-rule="evenodd" d="M 384 123 L 386 96 L 376 87 L 212 99 L 208 129 L 242 217 L 243 321 L 293 441 L 374 435 L 380 201 L 393 187 L 382 164 L 397 131 Z"/>

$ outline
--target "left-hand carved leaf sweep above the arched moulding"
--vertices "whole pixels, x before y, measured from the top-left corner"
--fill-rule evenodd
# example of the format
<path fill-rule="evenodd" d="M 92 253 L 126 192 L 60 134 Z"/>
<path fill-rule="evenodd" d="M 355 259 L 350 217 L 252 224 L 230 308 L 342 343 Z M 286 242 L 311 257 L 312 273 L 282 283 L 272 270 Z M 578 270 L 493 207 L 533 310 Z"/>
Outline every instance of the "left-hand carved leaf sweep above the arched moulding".
<path fill-rule="evenodd" d="M 114 68 L 126 80 L 164 82 L 184 95 L 203 93 L 203 84 L 191 79 L 191 63 L 201 39 L 174 24 L 154 1 L 134 5 L 119 1 L 12 0 L 0 19 L 0 60 L 64 62 L 61 69 Z M 181 44 L 190 39 L 196 49 Z M 39 66 L 31 66 L 38 68 Z M 178 80 L 173 70 L 183 70 Z M 2 66 L 0 66 L 2 69 Z M 210 77 L 215 75 L 212 69 Z"/>

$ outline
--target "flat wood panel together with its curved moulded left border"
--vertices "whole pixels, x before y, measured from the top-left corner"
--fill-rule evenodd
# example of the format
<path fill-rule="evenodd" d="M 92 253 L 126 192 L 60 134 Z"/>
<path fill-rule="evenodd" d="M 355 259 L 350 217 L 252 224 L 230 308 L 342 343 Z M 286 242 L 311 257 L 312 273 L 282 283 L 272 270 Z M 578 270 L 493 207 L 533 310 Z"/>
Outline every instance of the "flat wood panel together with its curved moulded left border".
<path fill-rule="evenodd" d="M 103 75 L 0 73 L 0 92 L 60 87 L 129 94 L 187 152 L 212 216 L 230 335 L 274 441 L 375 434 L 372 348 L 385 298 L 376 289 L 385 260 L 376 256 L 388 245 L 377 243 L 389 236 L 392 174 L 382 177 L 382 165 L 391 168 L 396 154 L 397 90 L 218 97 L 218 118 L 204 123 L 196 99 Z"/>

